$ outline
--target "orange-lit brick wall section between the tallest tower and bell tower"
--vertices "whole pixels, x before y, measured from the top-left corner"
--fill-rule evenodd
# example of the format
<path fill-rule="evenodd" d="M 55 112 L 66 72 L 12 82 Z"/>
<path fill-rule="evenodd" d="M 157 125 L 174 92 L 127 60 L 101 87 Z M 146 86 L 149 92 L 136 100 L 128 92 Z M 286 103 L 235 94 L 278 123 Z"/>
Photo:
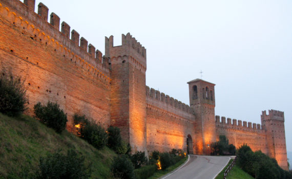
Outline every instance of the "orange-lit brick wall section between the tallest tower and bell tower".
<path fill-rule="evenodd" d="M 170 151 L 173 148 L 185 152 L 187 136 L 196 143 L 194 134 L 195 116 L 189 105 L 149 87 L 147 95 L 147 150 Z M 194 146 L 190 145 L 190 153 Z M 196 153 L 196 151 L 194 151 Z"/>

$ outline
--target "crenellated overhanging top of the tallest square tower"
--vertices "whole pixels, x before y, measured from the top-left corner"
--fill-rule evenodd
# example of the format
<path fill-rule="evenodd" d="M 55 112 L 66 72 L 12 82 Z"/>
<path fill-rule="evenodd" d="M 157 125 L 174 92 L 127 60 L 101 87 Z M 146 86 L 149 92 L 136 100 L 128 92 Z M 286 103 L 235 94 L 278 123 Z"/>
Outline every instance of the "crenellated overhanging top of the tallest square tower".
<path fill-rule="evenodd" d="M 109 38 L 105 37 L 105 41 L 105 55 L 111 58 L 112 63 L 130 62 L 143 72 L 146 71 L 146 49 L 130 33 L 122 34 L 121 46 L 114 46 L 112 35 Z"/>

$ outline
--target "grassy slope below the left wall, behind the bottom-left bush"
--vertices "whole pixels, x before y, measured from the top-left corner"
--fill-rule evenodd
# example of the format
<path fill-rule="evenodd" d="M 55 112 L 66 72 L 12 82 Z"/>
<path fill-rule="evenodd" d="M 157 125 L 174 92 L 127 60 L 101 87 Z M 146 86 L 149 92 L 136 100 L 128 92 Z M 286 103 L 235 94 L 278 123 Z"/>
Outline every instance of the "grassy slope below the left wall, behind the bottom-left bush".
<path fill-rule="evenodd" d="M 92 162 L 92 178 L 111 178 L 116 154 L 109 148 L 97 150 L 68 131 L 59 135 L 25 115 L 10 118 L 0 113 L 0 178 L 29 178 L 38 169 L 40 156 L 71 148 Z"/>

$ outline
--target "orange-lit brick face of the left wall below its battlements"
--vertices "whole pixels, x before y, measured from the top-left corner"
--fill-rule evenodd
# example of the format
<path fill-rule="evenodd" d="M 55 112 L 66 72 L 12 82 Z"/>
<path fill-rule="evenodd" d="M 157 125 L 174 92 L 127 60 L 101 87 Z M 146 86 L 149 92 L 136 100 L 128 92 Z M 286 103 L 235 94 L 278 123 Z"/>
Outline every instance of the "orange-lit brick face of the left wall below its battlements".
<path fill-rule="evenodd" d="M 87 62 L 72 54 L 79 53 L 79 47 L 65 49 L 65 45 L 42 34 L 53 34 L 54 31 L 37 29 L 37 26 L 25 22 L 25 16 L 20 19 L 11 11 L 3 7 L 0 11 L 0 66 L 25 80 L 28 113 L 32 114 L 37 102 L 53 101 L 67 113 L 68 129 L 72 127 L 74 113 L 86 114 L 105 127 L 109 126 L 110 82 L 105 77 L 109 70 L 99 68 L 97 72 L 93 69 L 93 66 L 98 67 L 97 63 L 90 65 L 91 60 Z M 66 40 L 70 42 L 70 39 Z M 83 57 L 87 55 L 82 54 Z"/>

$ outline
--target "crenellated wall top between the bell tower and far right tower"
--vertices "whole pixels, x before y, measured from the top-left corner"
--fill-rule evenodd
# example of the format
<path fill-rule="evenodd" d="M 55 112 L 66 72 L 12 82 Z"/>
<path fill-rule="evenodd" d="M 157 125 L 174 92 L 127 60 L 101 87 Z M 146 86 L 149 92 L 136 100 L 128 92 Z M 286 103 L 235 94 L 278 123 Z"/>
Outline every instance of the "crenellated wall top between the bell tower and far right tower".
<path fill-rule="evenodd" d="M 264 126 L 261 124 L 256 124 L 256 123 L 251 123 L 251 122 L 246 122 L 246 121 L 241 121 L 241 120 L 236 120 L 236 119 L 231 119 L 227 118 L 227 123 L 226 123 L 226 118 L 221 117 L 220 121 L 220 116 L 215 116 L 215 123 L 216 123 L 216 128 L 218 127 L 227 127 L 227 128 L 233 128 L 237 130 L 246 130 L 250 129 L 252 131 L 261 131 L 264 130 Z"/>

